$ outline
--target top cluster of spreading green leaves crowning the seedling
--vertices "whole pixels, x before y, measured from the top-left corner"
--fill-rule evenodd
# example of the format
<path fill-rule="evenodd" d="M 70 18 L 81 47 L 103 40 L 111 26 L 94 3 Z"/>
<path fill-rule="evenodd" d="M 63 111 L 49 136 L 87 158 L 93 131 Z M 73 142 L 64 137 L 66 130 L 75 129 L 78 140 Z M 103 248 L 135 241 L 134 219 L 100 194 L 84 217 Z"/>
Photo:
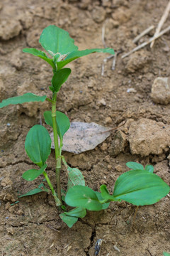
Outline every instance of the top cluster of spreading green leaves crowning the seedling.
<path fill-rule="evenodd" d="M 55 25 L 47 26 L 47 28 L 42 31 L 39 42 L 42 48 L 47 50 L 47 53 L 49 53 L 52 58 L 49 58 L 45 53 L 35 48 L 25 48 L 23 52 L 42 58 L 52 66 L 53 70 L 60 70 L 72 60 L 84 55 L 89 55 L 90 53 L 114 54 L 112 48 L 78 50 L 78 47 L 74 45 L 74 40 L 70 38 L 69 33 Z"/>

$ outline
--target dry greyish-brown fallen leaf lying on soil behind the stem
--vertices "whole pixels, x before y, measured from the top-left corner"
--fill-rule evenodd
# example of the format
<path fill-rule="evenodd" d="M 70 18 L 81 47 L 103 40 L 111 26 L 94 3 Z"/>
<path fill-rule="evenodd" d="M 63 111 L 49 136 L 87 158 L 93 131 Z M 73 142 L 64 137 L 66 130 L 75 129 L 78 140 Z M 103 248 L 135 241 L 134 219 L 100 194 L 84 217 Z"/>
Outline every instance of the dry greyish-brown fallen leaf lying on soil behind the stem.
<path fill-rule="evenodd" d="M 64 135 L 62 150 L 80 154 L 94 149 L 111 134 L 108 129 L 110 128 L 94 122 L 72 122 L 68 132 Z M 50 134 L 50 137 L 52 138 L 52 149 L 54 149 L 53 134 Z"/>

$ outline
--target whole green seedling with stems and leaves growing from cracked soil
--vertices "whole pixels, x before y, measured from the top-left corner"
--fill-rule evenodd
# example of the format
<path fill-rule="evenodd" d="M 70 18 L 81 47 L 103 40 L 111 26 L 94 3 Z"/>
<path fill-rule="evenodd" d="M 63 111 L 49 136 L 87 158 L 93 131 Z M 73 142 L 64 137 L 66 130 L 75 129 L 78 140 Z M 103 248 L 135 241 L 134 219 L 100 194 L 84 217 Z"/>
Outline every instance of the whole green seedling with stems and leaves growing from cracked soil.
<path fill-rule="evenodd" d="M 22 104 L 24 102 L 45 102 L 51 103 L 51 111 L 45 111 L 44 118 L 46 124 L 53 129 L 55 143 L 55 171 L 56 171 L 56 187 L 52 186 L 49 176 L 47 175 L 47 159 L 51 152 L 51 139 L 47 129 L 42 125 L 36 124 L 27 134 L 25 149 L 29 158 L 38 166 L 38 169 L 30 169 L 23 174 L 26 181 L 33 181 L 38 176 L 43 175 L 49 188 L 44 183 L 40 183 L 38 188 L 19 196 L 31 196 L 35 193 L 47 192 L 52 193 L 56 206 L 61 206 L 63 213 L 60 218 L 71 228 L 78 218 L 84 218 L 86 210 L 102 210 L 108 208 L 111 201 L 127 201 L 136 206 L 145 206 L 157 203 L 161 198 L 169 193 L 169 186 L 162 181 L 159 176 L 153 174 L 153 166 L 145 166 L 134 162 L 129 162 L 127 166 L 131 169 L 122 174 L 115 182 L 115 188 L 112 194 L 108 192 L 106 185 L 101 185 L 101 193 L 93 191 L 85 186 L 84 176 L 77 168 L 71 168 L 62 156 L 62 144 L 64 134 L 70 127 L 69 118 L 62 112 L 57 111 L 57 92 L 59 92 L 62 84 L 67 81 L 71 74 L 70 68 L 64 68 L 65 65 L 73 60 L 90 53 L 110 53 L 114 54 L 111 48 L 91 50 L 78 50 L 74 45 L 74 40 L 69 37 L 69 33 L 57 26 L 48 26 L 42 31 L 40 36 L 40 44 L 47 51 L 47 54 L 35 48 L 25 48 L 24 53 L 30 53 L 42 60 L 45 60 L 52 67 L 53 75 L 51 86 L 52 97 L 38 96 L 32 92 L 28 92 L 22 96 L 11 97 L 3 100 L 0 107 L 7 105 Z M 60 138 L 60 141 L 59 141 Z M 68 191 L 62 191 L 60 186 L 60 169 L 62 163 L 67 169 Z M 66 206 L 74 207 L 69 212 Z"/>

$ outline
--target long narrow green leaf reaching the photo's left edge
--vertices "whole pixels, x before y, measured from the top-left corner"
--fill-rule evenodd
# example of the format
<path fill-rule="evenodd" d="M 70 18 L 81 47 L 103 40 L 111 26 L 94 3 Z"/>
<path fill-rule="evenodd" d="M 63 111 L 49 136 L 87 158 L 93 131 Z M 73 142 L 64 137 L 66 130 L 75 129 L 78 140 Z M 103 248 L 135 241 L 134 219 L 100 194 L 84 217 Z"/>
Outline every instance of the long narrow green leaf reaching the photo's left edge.
<path fill-rule="evenodd" d="M 6 107 L 8 105 L 16 105 L 16 104 L 22 104 L 26 102 L 44 102 L 47 96 L 38 96 L 35 95 L 31 92 L 28 92 L 22 96 L 16 96 L 16 97 L 11 97 L 6 100 L 2 100 L 0 103 L 0 108 L 1 107 Z"/>

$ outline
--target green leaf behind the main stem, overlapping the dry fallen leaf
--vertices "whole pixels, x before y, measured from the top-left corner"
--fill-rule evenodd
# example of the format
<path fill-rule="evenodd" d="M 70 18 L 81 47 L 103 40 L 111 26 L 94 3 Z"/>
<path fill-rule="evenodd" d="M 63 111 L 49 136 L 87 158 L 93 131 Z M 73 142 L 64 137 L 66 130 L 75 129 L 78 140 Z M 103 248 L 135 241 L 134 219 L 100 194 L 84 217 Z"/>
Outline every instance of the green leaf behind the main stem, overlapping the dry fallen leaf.
<path fill-rule="evenodd" d="M 45 122 L 46 124 L 50 125 L 52 127 L 52 114 L 51 111 L 45 111 L 44 112 Z M 69 118 L 66 114 L 56 111 L 56 120 L 57 120 L 57 132 L 60 137 L 60 139 L 63 138 L 64 134 L 68 131 L 70 127 Z"/>

